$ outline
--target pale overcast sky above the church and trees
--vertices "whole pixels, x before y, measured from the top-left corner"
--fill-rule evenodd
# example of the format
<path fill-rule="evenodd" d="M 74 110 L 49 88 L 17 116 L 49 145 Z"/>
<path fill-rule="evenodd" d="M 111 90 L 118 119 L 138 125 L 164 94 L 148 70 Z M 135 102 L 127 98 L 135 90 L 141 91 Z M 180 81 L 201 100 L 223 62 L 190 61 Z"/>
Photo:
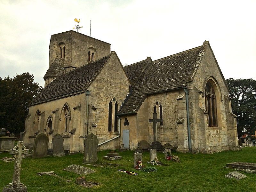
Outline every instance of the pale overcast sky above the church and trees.
<path fill-rule="evenodd" d="M 256 1 L 0 2 L 0 77 L 29 72 L 44 87 L 53 34 L 79 31 L 111 44 L 123 65 L 208 40 L 225 78 L 256 78 Z"/>

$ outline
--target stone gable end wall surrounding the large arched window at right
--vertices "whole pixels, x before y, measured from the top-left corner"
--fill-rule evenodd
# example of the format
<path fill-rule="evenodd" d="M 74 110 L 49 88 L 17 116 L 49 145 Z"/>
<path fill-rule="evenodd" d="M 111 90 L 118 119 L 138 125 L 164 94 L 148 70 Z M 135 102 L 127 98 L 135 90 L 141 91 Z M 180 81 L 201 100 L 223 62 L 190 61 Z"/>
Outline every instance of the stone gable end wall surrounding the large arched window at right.
<path fill-rule="evenodd" d="M 207 114 L 204 112 L 203 92 L 209 79 L 216 83 L 217 127 L 208 126 Z M 209 45 L 206 47 L 193 82 L 188 84 L 188 89 L 192 148 L 198 148 L 203 153 L 229 150 L 231 146 L 236 148 L 238 142 L 236 124 L 233 123 L 235 117 L 227 118 L 231 113 L 231 107 L 227 108 L 228 100 L 224 98 L 225 95 L 228 96 L 228 87 Z M 228 123 L 227 120 L 231 123 Z"/>

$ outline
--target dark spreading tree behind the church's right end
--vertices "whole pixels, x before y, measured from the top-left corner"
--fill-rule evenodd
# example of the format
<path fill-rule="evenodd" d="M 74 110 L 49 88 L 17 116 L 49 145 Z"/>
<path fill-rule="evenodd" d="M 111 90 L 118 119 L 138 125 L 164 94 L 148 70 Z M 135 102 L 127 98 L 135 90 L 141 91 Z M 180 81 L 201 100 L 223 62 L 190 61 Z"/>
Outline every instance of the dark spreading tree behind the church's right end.
<path fill-rule="evenodd" d="M 229 96 L 232 98 L 232 110 L 237 116 L 238 137 L 245 133 L 254 135 L 256 130 L 256 80 L 229 78 L 226 81 Z M 246 132 L 242 132 L 244 128 Z"/>

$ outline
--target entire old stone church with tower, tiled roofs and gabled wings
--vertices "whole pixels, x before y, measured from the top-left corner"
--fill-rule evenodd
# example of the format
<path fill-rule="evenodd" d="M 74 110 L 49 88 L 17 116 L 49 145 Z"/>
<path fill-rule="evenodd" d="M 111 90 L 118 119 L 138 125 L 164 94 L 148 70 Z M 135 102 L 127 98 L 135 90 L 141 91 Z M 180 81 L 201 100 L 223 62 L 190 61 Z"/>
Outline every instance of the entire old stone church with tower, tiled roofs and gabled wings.
<path fill-rule="evenodd" d="M 146 58 L 146 57 L 145 57 Z M 24 145 L 59 133 L 70 153 L 96 134 L 98 150 L 169 143 L 180 152 L 239 150 L 228 86 L 208 41 L 123 67 L 110 44 L 67 31 L 51 36 L 45 87 L 29 105 Z"/>

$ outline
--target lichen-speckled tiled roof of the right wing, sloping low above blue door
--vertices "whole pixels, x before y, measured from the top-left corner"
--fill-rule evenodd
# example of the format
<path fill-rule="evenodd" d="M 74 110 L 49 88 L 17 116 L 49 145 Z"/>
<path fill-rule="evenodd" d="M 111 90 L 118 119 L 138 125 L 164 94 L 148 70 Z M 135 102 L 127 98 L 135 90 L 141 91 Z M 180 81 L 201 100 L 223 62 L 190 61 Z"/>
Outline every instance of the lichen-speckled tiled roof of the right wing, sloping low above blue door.
<path fill-rule="evenodd" d="M 119 114 L 137 111 L 147 94 L 186 87 L 196 73 L 207 44 L 151 61 L 133 85 L 133 92 Z M 129 74 L 128 71 L 126 73 Z"/>

